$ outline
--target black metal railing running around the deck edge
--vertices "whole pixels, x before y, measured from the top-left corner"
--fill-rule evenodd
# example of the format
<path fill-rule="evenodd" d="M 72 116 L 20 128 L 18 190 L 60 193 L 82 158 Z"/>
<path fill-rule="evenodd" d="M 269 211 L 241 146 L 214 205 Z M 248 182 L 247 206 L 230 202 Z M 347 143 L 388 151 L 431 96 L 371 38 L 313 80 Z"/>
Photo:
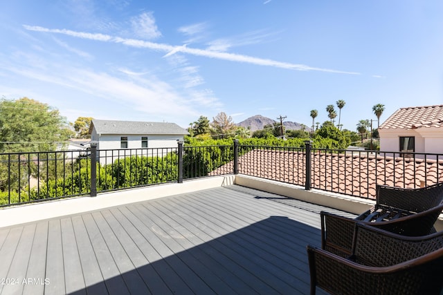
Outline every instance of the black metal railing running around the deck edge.
<path fill-rule="evenodd" d="M 0 206 L 237 174 L 360 198 L 443 182 L 443 154 L 241 145 L 0 154 Z"/>

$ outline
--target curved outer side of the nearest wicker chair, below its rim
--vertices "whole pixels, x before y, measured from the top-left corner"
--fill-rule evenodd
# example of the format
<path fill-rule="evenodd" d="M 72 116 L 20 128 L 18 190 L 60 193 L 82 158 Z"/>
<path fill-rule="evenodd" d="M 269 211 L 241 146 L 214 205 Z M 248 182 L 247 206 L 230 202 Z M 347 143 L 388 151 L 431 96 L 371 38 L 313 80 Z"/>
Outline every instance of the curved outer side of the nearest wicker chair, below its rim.
<path fill-rule="evenodd" d="M 368 267 L 307 246 L 311 294 L 440 294 L 443 249 L 388 267 Z"/>

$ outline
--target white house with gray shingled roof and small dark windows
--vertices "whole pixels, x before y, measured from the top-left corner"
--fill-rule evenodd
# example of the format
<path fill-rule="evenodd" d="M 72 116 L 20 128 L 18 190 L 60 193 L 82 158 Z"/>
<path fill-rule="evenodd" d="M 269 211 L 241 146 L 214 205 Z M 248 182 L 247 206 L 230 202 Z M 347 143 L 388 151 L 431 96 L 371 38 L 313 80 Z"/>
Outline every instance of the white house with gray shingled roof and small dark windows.
<path fill-rule="evenodd" d="M 97 149 L 147 149 L 177 147 L 188 131 L 175 123 L 93 119 L 89 127 Z"/>

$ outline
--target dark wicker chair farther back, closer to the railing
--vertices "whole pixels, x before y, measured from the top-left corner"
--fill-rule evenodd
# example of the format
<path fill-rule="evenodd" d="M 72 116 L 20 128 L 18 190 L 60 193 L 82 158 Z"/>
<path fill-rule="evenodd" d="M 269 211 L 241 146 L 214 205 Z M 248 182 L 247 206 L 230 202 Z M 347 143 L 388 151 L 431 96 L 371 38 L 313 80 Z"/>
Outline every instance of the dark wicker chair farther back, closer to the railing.
<path fill-rule="evenodd" d="M 379 186 L 377 204 L 355 219 L 320 212 L 321 247 L 343 257 L 349 256 L 356 222 L 404 236 L 431 234 L 435 231 L 435 220 L 443 210 L 442 200 L 443 183 L 422 189 Z M 374 211 L 380 212 L 378 217 L 372 214 Z"/>

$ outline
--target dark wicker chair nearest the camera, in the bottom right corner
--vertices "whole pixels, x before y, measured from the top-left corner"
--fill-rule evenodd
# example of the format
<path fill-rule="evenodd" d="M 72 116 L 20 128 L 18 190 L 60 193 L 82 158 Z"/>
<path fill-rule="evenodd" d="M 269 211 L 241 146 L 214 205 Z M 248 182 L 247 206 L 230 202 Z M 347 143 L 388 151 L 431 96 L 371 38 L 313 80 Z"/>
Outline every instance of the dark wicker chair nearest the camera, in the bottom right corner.
<path fill-rule="evenodd" d="M 407 237 L 357 224 L 350 258 L 307 246 L 311 294 L 440 294 L 443 231 Z"/>

